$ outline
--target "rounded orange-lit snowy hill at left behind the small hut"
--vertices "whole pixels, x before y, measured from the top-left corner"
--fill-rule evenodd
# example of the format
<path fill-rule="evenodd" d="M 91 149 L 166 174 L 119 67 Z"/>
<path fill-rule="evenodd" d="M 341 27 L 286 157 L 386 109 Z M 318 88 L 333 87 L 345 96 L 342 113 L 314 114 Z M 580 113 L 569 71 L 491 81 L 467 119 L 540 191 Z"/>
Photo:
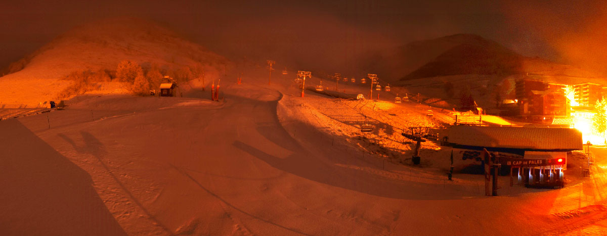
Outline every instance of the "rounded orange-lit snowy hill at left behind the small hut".
<path fill-rule="evenodd" d="M 6 89 L 0 101 L 32 106 L 55 99 L 71 83 L 61 80 L 69 73 L 115 70 L 123 60 L 137 62 L 144 70 L 153 65 L 166 70 L 200 66 L 209 79 L 217 78 L 227 63 L 222 56 L 153 22 L 106 19 L 76 27 L 13 63 L 13 73 L 0 78 L 0 86 Z"/>

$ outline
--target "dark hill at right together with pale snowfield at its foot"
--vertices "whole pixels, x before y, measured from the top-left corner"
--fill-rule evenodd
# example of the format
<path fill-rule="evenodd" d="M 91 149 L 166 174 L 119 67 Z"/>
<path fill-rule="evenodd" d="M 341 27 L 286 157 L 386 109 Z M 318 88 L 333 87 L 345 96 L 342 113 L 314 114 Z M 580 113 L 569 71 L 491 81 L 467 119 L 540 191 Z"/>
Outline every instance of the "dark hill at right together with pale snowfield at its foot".
<path fill-rule="evenodd" d="M 596 73 L 529 58 L 469 34 L 410 42 L 384 56 L 378 65 L 382 65 L 377 70 L 382 79 L 452 106 L 459 106 L 460 93 L 470 90 L 480 106 L 495 107 L 495 93 L 506 97 L 504 90 L 514 89 L 514 81 L 522 78 L 562 84 L 607 82 Z"/>

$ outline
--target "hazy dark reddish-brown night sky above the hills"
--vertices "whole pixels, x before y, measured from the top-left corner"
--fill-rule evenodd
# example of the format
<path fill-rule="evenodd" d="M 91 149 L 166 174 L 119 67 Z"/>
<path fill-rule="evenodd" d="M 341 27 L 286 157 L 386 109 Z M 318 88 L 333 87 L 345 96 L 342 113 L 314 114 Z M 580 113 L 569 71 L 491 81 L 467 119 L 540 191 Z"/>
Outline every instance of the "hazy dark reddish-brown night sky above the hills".
<path fill-rule="evenodd" d="M 231 59 L 351 67 L 410 41 L 474 33 L 525 56 L 597 70 L 607 62 L 599 1 L 64 0 L 0 2 L 0 67 L 76 25 L 119 16 L 158 22 Z"/>

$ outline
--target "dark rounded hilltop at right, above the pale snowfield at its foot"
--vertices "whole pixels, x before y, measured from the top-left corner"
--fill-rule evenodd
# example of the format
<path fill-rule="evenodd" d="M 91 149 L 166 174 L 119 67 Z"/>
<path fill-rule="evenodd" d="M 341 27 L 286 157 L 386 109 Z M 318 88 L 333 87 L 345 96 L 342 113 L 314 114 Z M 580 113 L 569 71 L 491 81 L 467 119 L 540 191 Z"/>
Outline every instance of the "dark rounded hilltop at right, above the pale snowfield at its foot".
<path fill-rule="evenodd" d="M 472 34 L 414 41 L 384 53 L 370 70 L 397 84 L 452 75 L 534 75 L 595 78 L 595 73 L 541 58 L 529 58 L 498 42 Z M 557 81 L 558 82 L 558 79 Z"/>

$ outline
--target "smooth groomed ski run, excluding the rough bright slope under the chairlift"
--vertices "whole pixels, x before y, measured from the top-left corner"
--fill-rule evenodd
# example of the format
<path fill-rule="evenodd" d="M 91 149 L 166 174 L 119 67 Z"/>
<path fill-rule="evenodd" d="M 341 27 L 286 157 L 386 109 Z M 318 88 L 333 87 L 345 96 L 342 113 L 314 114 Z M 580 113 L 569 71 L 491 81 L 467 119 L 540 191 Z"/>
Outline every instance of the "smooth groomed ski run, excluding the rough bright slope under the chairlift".
<path fill-rule="evenodd" d="M 2 176 L 3 189 L 11 191 L 3 196 L 13 202 L 1 201 L 0 209 L 16 211 L 9 207 L 27 206 L 35 195 L 54 201 L 76 196 L 66 200 L 64 205 L 70 206 L 66 211 L 47 215 L 42 220 L 47 224 L 16 224 L 8 234 L 28 229 L 39 234 L 49 226 L 55 227 L 49 232 L 63 232 L 70 223 L 82 227 L 72 228 L 69 234 L 103 235 L 512 235 L 558 228 L 563 233 L 575 229 L 562 226 L 575 218 L 563 220 L 554 214 L 599 201 L 582 199 L 577 186 L 463 197 L 444 189 L 443 177 L 429 178 L 419 168 L 384 170 L 347 144 L 334 145 L 333 137 L 310 124 L 279 119 L 282 95 L 274 89 L 243 84 L 226 86 L 224 91 L 225 103 L 93 98 L 86 104 L 92 109 L 71 106 L 48 117 L 0 121 L 3 132 L 26 135 L 32 139 L 27 143 L 36 144 L 14 146 L 20 142 L 8 138 L 0 142 L 3 149 L 15 150 L 11 160 L 29 158 L 23 168 L 46 160 L 47 153 L 55 153 L 53 157 L 65 163 L 31 165 L 32 172 L 52 172 L 42 175 L 49 178 L 27 183 L 16 180 L 38 175 L 3 172 L 8 173 Z M 19 124 L 24 129 L 9 129 Z M 55 178 L 66 173 L 76 174 L 66 180 Z M 87 178 L 90 181 L 84 181 Z M 71 181 L 76 184 L 73 188 Z M 15 190 L 31 183 L 63 187 Z M 67 192 L 74 188 L 94 189 L 98 196 Z M 95 217 L 87 218 L 93 210 L 86 207 L 101 203 L 107 208 L 97 207 Z M 36 207 L 52 212 L 55 206 Z M 86 227 L 87 222 L 109 215 L 115 221 L 98 224 L 114 231 Z M 84 221 L 73 220 L 78 216 Z M 19 217 L 4 215 L 0 223 L 15 218 Z"/>

